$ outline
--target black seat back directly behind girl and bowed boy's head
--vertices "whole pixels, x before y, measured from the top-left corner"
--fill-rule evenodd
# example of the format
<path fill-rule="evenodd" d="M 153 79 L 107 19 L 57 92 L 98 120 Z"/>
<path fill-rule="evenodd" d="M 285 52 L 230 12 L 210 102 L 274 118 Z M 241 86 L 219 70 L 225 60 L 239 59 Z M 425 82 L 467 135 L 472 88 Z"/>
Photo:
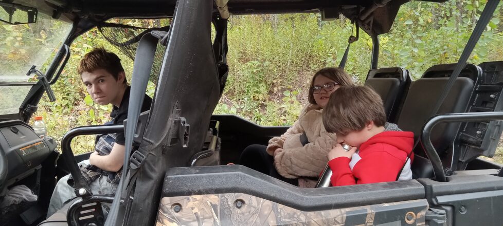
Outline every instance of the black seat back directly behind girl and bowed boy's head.
<path fill-rule="evenodd" d="M 408 70 L 400 67 L 369 70 L 365 85 L 372 87 L 383 99 L 388 122 L 396 122 L 410 81 Z"/>

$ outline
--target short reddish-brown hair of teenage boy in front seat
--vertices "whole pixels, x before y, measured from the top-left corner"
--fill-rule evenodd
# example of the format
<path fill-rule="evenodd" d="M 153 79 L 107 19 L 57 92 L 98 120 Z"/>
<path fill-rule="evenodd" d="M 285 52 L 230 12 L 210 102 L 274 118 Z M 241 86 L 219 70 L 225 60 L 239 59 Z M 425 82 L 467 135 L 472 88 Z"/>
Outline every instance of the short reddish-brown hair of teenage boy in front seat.
<path fill-rule="evenodd" d="M 82 75 L 83 72 L 92 72 L 98 69 L 104 69 L 111 73 L 116 81 L 119 73 L 124 72 L 119 57 L 103 48 L 95 48 L 86 53 L 80 61 L 79 67 L 77 67 L 77 72 Z M 127 83 L 125 77 L 124 83 Z"/>

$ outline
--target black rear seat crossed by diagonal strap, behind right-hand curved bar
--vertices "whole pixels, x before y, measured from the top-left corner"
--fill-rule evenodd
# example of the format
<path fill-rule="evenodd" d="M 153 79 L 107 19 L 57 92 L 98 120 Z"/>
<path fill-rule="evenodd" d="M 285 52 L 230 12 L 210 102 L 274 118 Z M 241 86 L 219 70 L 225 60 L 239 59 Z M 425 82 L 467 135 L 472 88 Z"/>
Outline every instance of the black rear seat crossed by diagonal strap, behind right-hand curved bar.
<path fill-rule="evenodd" d="M 433 110 L 447 84 L 455 64 L 435 65 L 426 70 L 423 77 L 411 84 L 403 103 L 397 124 L 404 131 L 412 131 L 415 141 L 420 136 L 424 123 L 433 116 Z M 470 65 L 473 67 L 476 65 Z M 468 66 L 467 66 L 468 67 Z M 436 70 L 439 69 L 439 70 Z M 440 106 L 437 114 L 466 112 L 474 87 L 481 73 L 478 70 L 463 70 Z M 452 143 L 456 138 L 460 123 L 441 123 L 432 131 L 430 139 L 440 158 L 448 158 L 452 152 Z M 416 155 L 423 155 L 421 145 L 414 150 Z M 431 163 L 427 159 L 417 158 L 412 164 L 414 177 L 433 177 Z"/>

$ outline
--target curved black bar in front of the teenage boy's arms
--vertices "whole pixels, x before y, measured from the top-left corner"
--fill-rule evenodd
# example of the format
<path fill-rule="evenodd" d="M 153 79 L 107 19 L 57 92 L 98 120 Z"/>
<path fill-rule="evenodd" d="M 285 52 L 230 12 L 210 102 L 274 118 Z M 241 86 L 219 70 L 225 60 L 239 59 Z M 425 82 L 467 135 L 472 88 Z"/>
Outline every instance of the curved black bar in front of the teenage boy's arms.
<path fill-rule="evenodd" d="M 111 134 L 111 133 L 122 133 L 124 131 L 124 125 L 91 125 L 91 126 L 80 126 L 70 129 L 61 140 L 61 155 L 65 159 L 68 171 L 70 171 L 71 176 L 74 178 L 75 190 L 85 189 L 86 191 L 81 196 L 91 195 L 91 189 L 89 185 L 84 181 L 84 177 L 80 173 L 79 166 L 77 165 L 77 160 L 75 160 L 74 153 L 71 150 L 71 140 L 77 136 L 82 135 L 97 135 L 97 134 Z M 80 191 L 79 191 L 80 193 Z M 77 193 L 78 194 L 78 193 Z M 78 194 L 79 195 L 79 194 Z"/>

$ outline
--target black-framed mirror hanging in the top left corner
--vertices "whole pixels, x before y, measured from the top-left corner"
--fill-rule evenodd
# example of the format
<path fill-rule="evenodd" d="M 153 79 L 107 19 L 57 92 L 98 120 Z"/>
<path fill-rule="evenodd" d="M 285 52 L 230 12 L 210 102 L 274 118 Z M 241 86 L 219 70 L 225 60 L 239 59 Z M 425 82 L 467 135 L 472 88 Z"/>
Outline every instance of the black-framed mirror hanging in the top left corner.
<path fill-rule="evenodd" d="M 0 2 L 0 21 L 8 24 L 31 24 L 37 22 L 36 8 L 20 4 Z"/>

